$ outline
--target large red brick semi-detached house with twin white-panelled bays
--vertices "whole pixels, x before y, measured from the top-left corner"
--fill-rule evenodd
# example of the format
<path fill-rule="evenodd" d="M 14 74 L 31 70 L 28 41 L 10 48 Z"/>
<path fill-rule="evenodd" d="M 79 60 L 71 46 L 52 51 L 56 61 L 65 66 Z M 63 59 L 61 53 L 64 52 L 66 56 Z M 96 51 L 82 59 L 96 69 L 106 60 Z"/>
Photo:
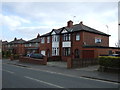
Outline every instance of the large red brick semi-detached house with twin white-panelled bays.
<path fill-rule="evenodd" d="M 118 48 L 109 47 L 109 36 L 82 22 L 73 25 L 70 20 L 67 26 L 42 35 L 39 51 L 47 57 L 59 57 L 64 61 L 68 57 L 97 58 L 99 55 L 108 55 L 110 50 L 120 51 Z"/>

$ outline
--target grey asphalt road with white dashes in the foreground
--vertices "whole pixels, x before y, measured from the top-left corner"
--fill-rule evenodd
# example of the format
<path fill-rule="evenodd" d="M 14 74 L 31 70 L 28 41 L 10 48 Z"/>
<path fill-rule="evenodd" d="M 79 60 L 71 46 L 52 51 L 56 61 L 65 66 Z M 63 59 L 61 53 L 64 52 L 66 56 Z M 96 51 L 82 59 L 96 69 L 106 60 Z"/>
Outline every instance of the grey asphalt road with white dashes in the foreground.
<path fill-rule="evenodd" d="M 3 63 L 3 88 L 118 88 L 115 82 L 73 77 Z"/>

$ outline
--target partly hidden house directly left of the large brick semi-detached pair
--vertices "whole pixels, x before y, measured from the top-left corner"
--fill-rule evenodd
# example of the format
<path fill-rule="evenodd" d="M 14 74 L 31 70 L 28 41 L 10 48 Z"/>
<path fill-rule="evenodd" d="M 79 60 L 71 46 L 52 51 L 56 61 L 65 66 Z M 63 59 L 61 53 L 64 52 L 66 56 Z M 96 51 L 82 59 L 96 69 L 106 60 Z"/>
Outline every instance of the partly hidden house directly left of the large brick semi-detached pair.
<path fill-rule="evenodd" d="M 39 43 L 40 43 L 40 35 L 39 34 L 37 35 L 36 38 L 26 41 L 24 43 L 25 54 L 39 53 Z"/>

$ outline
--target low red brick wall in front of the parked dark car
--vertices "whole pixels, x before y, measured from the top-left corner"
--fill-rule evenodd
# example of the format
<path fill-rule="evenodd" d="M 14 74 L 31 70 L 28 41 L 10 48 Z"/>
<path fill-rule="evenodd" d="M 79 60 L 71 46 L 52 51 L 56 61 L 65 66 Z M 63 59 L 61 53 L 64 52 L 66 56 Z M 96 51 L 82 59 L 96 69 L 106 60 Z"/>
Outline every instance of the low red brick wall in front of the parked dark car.
<path fill-rule="evenodd" d="M 19 61 L 25 62 L 25 63 L 46 65 L 47 64 L 47 57 L 44 57 L 43 59 L 35 59 L 35 58 L 30 58 L 30 57 L 20 57 Z"/>

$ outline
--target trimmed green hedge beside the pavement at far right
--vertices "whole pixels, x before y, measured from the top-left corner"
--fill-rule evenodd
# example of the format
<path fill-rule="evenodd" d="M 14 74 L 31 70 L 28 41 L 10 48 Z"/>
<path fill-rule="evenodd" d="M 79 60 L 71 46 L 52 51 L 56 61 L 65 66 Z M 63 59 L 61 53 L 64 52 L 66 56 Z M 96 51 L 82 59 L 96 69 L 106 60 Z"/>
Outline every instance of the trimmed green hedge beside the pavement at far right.
<path fill-rule="evenodd" d="M 104 67 L 120 68 L 120 57 L 100 56 L 99 64 Z"/>

